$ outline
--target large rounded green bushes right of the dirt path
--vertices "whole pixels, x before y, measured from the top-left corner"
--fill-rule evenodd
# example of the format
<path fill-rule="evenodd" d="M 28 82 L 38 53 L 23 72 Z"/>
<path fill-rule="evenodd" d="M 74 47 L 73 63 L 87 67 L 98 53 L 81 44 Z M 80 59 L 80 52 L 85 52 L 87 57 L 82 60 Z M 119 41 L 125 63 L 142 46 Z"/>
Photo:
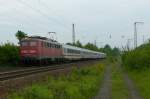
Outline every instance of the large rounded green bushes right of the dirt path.
<path fill-rule="evenodd" d="M 122 55 L 123 64 L 131 69 L 150 67 L 150 43 L 124 52 Z"/>

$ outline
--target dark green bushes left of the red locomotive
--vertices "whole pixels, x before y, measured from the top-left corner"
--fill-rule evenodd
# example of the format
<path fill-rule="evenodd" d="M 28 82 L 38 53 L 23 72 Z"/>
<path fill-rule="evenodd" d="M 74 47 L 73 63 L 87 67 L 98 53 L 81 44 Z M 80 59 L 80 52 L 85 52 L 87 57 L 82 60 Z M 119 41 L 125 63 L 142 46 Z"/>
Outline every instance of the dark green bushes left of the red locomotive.
<path fill-rule="evenodd" d="M 11 43 L 0 45 L 0 64 L 17 64 L 19 48 Z"/>

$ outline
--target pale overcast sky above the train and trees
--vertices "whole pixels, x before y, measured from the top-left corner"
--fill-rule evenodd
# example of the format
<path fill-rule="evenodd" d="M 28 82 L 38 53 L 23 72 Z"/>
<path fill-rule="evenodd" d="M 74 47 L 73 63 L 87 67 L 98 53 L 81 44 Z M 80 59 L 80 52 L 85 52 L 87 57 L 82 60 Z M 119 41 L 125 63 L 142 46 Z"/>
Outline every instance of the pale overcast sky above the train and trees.
<path fill-rule="evenodd" d="M 141 44 L 143 35 L 150 38 L 149 9 L 150 0 L 0 0 L 0 42 L 16 44 L 17 30 L 41 36 L 54 31 L 59 42 L 72 42 L 75 23 L 76 40 L 121 47 L 133 39 L 133 23 L 142 21 Z"/>

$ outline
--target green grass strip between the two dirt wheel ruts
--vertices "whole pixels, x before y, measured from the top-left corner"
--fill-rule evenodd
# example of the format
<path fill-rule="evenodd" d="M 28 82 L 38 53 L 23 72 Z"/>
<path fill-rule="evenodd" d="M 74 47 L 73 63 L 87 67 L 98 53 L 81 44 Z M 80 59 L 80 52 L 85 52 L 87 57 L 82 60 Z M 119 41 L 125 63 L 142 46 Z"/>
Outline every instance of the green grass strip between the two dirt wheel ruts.
<path fill-rule="evenodd" d="M 116 65 L 112 66 L 112 93 L 111 99 L 129 99 L 128 89 L 123 75 Z"/>

